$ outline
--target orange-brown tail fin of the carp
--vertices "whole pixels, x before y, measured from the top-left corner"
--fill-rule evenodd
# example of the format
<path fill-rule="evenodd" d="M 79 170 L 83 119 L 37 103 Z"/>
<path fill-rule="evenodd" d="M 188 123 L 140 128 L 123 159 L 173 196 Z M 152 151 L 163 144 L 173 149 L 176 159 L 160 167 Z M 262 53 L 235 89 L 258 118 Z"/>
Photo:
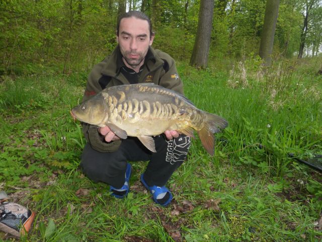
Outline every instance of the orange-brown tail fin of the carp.
<path fill-rule="evenodd" d="M 220 129 L 224 129 L 227 126 L 228 123 L 224 118 L 206 112 L 204 126 L 198 131 L 198 135 L 203 147 L 210 155 L 214 154 L 215 137 L 213 134 L 220 132 Z"/>

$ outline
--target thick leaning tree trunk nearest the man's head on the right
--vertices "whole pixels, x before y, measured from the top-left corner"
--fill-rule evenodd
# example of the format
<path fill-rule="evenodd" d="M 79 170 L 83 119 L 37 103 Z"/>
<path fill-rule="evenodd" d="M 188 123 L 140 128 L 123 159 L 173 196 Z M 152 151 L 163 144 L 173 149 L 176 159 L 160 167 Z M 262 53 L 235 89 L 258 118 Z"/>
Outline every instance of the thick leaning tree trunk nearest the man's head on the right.
<path fill-rule="evenodd" d="M 200 0 L 198 28 L 190 65 L 206 68 L 208 64 L 210 37 L 213 19 L 213 0 Z"/>

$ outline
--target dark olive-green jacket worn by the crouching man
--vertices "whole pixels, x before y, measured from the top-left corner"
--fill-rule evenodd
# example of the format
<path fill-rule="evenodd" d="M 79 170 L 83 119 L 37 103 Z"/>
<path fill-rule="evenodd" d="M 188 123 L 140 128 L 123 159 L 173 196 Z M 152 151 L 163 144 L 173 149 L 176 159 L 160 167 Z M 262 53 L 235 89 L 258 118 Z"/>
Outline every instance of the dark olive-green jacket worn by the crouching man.
<path fill-rule="evenodd" d="M 104 88 L 130 84 L 120 68 L 120 49 L 117 46 L 111 55 L 94 66 L 85 90 L 83 101 L 88 100 Z M 138 83 L 154 83 L 183 94 L 183 84 L 178 75 L 174 59 L 167 53 L 149 48 L 145 57 L 143 70 Z M 98 127 L 83 124 L 83 133 L 92 148 L 100 152 L 114 152 L 121 144 L 121 140 L 105 142 L 98 133 Z"/>

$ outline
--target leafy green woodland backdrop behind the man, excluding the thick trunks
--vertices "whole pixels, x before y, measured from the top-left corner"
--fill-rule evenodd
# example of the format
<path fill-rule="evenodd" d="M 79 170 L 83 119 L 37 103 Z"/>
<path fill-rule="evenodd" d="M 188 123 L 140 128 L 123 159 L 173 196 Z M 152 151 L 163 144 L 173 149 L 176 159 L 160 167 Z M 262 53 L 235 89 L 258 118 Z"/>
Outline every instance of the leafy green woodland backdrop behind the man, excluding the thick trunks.
<path fill-rule="evenodd" d="M 177 59 L 190 59 L 196 34 L 200 35 L 200 6 L 211 8 L 211 60 L 259 53 L 268 8 L 265 0 L 4 0 L 0 3 L 0 72 L 32 72 L 51 64 L 59 64 L 64 73 L 90 68 L 116 45 L 117 17 L 127 10 L 150 16 L 155 48 Z M 322 1 L 280 0 L 277 6 L 273 56 L 318 55 Z"/>

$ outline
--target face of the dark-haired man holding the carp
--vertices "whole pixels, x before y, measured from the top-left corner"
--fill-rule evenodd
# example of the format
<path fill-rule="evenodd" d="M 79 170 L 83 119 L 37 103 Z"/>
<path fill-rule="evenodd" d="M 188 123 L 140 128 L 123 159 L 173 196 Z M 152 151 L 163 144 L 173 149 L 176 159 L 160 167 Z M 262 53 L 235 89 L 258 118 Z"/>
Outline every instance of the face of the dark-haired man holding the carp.
<path fill-rule="evenodd" d="M 154 38 L 154 35 L 150 36 L 148 22 L 135 17 L 123 18 L 116 38 L 125 65 L 134 70 L 139 69 Z"/>

